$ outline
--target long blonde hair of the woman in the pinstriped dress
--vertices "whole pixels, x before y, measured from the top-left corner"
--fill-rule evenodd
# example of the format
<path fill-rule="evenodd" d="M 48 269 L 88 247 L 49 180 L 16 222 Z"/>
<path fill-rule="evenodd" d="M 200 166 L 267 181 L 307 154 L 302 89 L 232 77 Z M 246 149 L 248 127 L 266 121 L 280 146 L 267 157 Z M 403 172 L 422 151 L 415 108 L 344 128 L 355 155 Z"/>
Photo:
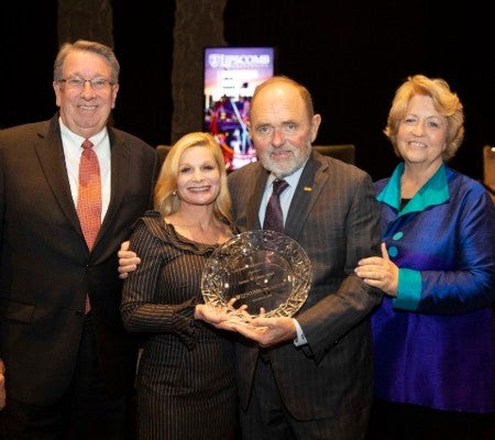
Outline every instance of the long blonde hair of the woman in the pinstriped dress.
<path fill-rule="evenodd" d="M 232 200 L 227 185 L 227 170 L 222 151 L 213 136 L 204 132 L 185 134 L 166 155 L 155 186 L 155 210 L 160 211 L 162 216 L 169 216 L 179 209 L 180 200 L 176 195 L 179 162 L 183 153 L 191 146 L 202 146 L 213 153 L 215 162 L 220 170 L 220 193 L 215 200 L 213 212 L 218 219 L 233 224 L 231 213 Z"/>

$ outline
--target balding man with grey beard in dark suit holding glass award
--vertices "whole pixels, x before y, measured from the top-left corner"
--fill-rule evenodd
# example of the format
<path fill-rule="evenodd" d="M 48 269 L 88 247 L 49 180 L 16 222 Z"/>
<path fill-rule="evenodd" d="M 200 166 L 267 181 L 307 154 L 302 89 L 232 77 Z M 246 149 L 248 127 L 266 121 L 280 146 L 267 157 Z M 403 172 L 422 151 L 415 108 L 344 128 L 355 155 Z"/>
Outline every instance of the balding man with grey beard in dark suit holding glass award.
<path fill-rule="evenodd" d="M 209 317 L 248 337 L 235 356 L 243 440 L 359 440 L 366 431 L 370 315 L 383 294 L 354 267 L 380 254 L 378 209 L 366 173 L 312 151 L 320 122 L 305 87 L 286 77 L 266 80 L 250 112 L 260 162 L 229 175 L 233 217 L 245 230 L 262 228 L 272 183 L 288 183 L 280 195 L 283 232 L 312 265 L 308 298 L 294 319 L 256 318 L 256 328 Z M 139 264 L 125 249 L 119 253 L 123 274 Z"/>

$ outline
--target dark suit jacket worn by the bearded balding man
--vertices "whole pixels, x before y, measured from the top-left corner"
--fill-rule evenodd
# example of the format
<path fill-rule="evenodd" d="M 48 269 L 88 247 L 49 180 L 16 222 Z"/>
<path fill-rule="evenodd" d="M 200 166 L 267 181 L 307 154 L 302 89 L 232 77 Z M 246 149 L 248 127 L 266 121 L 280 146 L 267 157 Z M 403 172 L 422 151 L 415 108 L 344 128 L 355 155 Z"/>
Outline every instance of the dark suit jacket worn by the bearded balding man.
<path fill-rule="evenodd" d="M 261 229 L 258 207 L 268 174 L 261 163 L 229 176 L 233 213 L 242 229 Z M 296 188 L 284 232 L 308 253 L 312 286 L 296 315 L 309 345 L 287 342 L 270 350 L 275 380 L 299 420 L 349 416 L 370 406 L 370 314 L 382 293 L 353 268 L 380 251 L 378 209 L 371 177 L 353 165 L 312 152 Z M 250 398 L 256 346 L 238 343 L 241 405 Z"/>

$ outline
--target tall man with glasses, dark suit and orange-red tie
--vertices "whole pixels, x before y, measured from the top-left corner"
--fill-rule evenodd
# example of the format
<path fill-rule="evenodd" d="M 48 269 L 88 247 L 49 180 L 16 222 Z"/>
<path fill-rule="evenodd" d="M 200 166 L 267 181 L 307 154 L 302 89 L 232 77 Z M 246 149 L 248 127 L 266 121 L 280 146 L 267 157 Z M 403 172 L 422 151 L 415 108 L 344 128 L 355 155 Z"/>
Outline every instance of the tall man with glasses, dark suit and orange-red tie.
<path fill-rule="evenodd" d="M 59 112 L 0 132 L 2 439 L 125 436 L 136 346 L 121 323 L 117 250 L 151 207 L 157 158 L 108 125 L 119 70 L 110 47 L 63 45 L 53 81 Z M 94 243 L 76 211 L 85 140 L 101 186 Z"/>

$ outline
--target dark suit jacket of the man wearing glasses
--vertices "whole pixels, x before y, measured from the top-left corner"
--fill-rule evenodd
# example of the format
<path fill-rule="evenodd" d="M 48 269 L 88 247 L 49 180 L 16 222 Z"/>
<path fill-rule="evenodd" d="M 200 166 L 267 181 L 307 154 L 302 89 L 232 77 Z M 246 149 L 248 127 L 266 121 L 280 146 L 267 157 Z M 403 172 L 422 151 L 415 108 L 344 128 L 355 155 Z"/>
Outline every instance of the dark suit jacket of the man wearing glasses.
<path fill-rule="evenodd" d="M 12 398 L 44 405 L 67 389 L 89 293 L 107 385 L 133 383 L 135 346 L 120 317 L 117 251 L 151 207 L 156 152 L 109 128 L 111 198 L 89 252 L 70 195 L 58 114 L 0 131 L 0 356 Z"/>

